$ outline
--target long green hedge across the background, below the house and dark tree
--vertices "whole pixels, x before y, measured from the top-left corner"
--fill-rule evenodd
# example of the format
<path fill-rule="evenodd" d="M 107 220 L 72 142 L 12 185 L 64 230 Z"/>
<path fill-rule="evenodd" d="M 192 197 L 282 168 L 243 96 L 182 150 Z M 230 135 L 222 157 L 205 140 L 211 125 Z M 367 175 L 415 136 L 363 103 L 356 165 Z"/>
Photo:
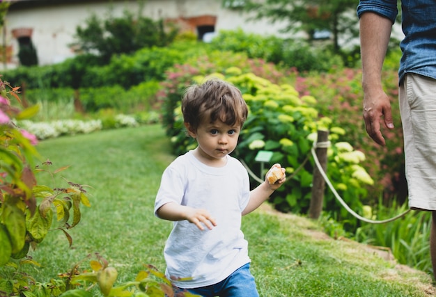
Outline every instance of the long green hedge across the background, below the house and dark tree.
<path fill-rule="evenodd" d="M 248 58 L 261 58 L 283 68 L 294 67 L 299 72 L 328 72 L 332 67 L 343 66 L 340 56 L 313 48 L 305 42 L 236 30 L 220 31 L 210 44 L 179 40 L 169 47 L 144 48 L 132 55 L 112 56 L 106 65 L 101 64 L 98 56 L 86 54 L 56 65 L 6 70 L 3 77 L 7 77 L 13 86 L 22 86 L 24 89 L 119 85 L 127 90 L 143 81 L 162 81 L 165 71 L 172 65 L 185 63 L 189 59 L 201 59 L 212 51 L 240 52 Z"/>

